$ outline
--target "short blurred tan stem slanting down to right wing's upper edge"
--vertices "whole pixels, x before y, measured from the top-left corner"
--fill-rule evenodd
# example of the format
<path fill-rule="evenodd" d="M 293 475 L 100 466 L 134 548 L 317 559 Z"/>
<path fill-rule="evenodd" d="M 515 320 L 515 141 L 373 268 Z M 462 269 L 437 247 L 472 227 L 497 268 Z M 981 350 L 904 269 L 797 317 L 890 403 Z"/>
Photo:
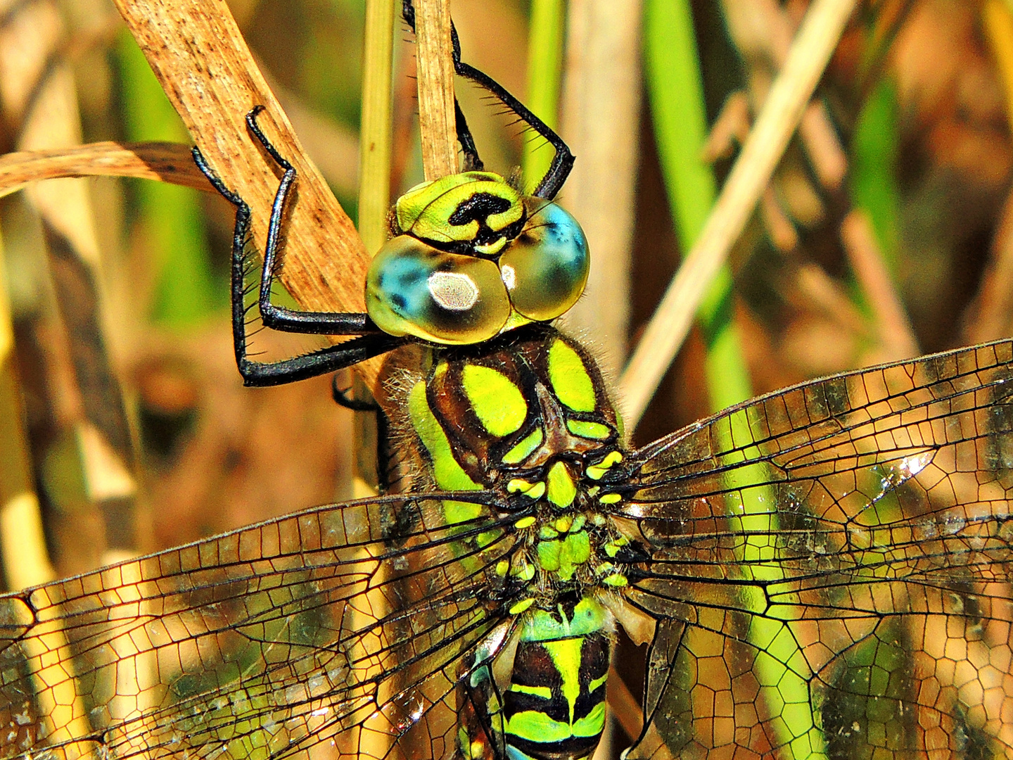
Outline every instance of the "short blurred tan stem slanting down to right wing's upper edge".
<path fill-rule="evenodd" d="M 893 288 L 893 281 L 868 215 L 861 210 L 848 213 L 841 223 L 841 241 L 855 275 L 875 317 L 876 331 L 882 347 L 880 361 L 911 359 L 922 352 L 915 331 Z"/>

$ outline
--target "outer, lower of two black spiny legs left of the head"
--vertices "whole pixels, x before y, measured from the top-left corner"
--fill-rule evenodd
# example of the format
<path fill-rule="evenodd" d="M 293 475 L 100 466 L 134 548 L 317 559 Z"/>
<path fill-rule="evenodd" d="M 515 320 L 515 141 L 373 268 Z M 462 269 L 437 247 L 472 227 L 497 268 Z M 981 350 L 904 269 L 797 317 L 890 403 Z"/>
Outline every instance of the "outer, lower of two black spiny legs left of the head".
<path fill-rule="evenodd" d="M 239 368 L 239 373 L 243 376 L 243 381 L 246 385 L 283 385 L 297 380 L 305 380 L 310 377 L 322 375 L 326 372 L 334 372 L 344 367 L 350 367 L 354 364 L 358 364 L 359 362 L 366 361 L 367 359 L 371 359 L 372 357 L 391 351 L 404 343 L 402 338 L 393 337 L 392 335 L 388 335 L 384 332 L 375 332 L 362 335 L 361 337 L 347 340 L 346 343 L 339 344 L 337 346 L 328 346 L 320 351 L 315 351 L 311 354 L 305 354 L 300 357 L 293 357 L 292 359 L 285 359 L 280 362 L 254 362 L 250 360 L 246 356 L 247 309 L 244 303 L 244 296 L 246 295 L 244 282 L 246 274 L 245 247 L 246 238 L 249 233 L 250 208 L 238 194 L 233 193 L 222 183 L 222 180 L 208 165 L 208 162 L 205 161 L 204 156 L 198 148 L 193 148 L 193 161 L 197 163 L 198 168 L 204 172 L 204 175 L 208 177 L 208 180 L 214 185 L 215 189 L 222 194 L 225 199 L 236 207 L 236 224 L 232 236 L 232 341 L 233 349 L 236 354 L 236 366 Z M 292 176 L 295 176 L 295 170 L 293 170 Z M 291 181 L 292 180 L 290 179 L 289 184 L 291 184 Z M 284 191 L 288 191 L 288 185 L 284 186 Z M 279 202 L 279 196 L 281 197 L 281 202 Z M 272 227 L 276 226 L 276 212 L 279 222 L 281 220 L 281 209 L 285 203 L 283 187 L 279 187 L 279 196 L 276 196 L 275 210 L 271 213 Z M 275 231 L 275 236 L 277 241 L 277 229 Z M 261 289 L 262 288 L 263 282 L 261 282 Z M 306 314 L 309 316 L 316 315 L 315 312 L 294 313 Z M 328 313 L 322 313 L 321 315 L 325 320 L 328 317 L 333 316 Z M 338 316 L 356 317 L 359 315 L 346 314 Z M 333 324 L 333 322 L 328 322 L 328 324 Z M 297 332 L 342 334 L 338 330 L 330 329 L 291 329 L 292 331 Z M 362 330 L 359 332 L 361 333 Z M 356 333 L 344 332 L 343 334 Z"/>

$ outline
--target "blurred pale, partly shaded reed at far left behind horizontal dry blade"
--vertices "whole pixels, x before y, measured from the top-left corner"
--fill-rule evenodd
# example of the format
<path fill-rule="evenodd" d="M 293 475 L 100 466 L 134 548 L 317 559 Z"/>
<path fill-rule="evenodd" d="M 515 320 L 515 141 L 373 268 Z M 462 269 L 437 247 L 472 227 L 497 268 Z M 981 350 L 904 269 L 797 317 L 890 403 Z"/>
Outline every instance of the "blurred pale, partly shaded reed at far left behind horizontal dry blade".
<path fill-rule="evenodd" d="M 0 78 L 5 113 L 20 115 L 18 147 L 75 148 L 81 142 L 81 122 L 73 72 L 65 61 L 52 60 L 66 33 L 60 9 L 54 0 L 45 0 L 12 12 L 16 17 L 0 35 L 4 51 Z M 32 83 L 30 95 L 22 89 L 26 82 Z M 134 442 L 107 351 L 112 325 L 104 315 L 98 277 L 101 251 L 91 199 L 87 183 L 80 179 L 33 184 L 27 196 L 46 232 L 49 272 L 63 322 L 59 343 L 66 347 L 69 390 L 77 399 L 76 413 L 65 421 L 65 433 L 73 435 L 85 488 L 82 496 L 93 524 L 104 527 L 94 535 L 68 532 L 58 556 L 62 569 L 67 568 L 67 558 L 88 557 L 95 565 L 104 564 L 108 557 L 103 547 L 112 546 L 119 553 L 139 550 L 138 486 Z"/>

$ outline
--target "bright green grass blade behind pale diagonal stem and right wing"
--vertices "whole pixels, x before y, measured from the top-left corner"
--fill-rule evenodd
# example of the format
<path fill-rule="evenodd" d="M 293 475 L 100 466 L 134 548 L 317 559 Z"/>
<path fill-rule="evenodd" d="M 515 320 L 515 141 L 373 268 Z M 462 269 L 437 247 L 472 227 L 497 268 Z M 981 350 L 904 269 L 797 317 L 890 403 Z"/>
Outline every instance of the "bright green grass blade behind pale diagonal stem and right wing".
<path fill-rule="evenodd" d="M 693 16 L 689 0 L 647 0 L 645 11 L 644 64 L 654 136 L 676 233 L 683 250 L 689 250 L 716 198 L 713 171 L 701 158 L 707 119 Z M 732 278 L 727 265 L 708 289 L 698 319 L 707 344 L 711 407 L 719 409 L 746 400 L 753 389 L 732 319 Z M 735 414 L 729 420 L 723 443 L 749 440 L 748 421 L 741 417 Z M 759 450 L 747 450 L 743 455 L 760 454 Z M 736 483 L 727 485 L 734 488 Z M 728 517 L 730 529 L 750 534 L 738 551 L 744 574 L 761 583 L 776 583 L 783 575 L 776 562 L 766 561 L 773 554 L 772 542 L 778 533 L 777 510 L 772 509 L 768 491 L 741 491 L 742 503 Z M 763 609 L 759 586 L 747 587 L 743 593 L 750 609 Z M 804 660 L 787 625 L 757 615 L 750 623 L 748 637 L 758 651 L 754 669 L 764 702 L 775 715 L 771 726 L 778 744 L 795 760 L 825 757 L 826 742 L 809 706 L 808 674 L 794 669 Z"/>

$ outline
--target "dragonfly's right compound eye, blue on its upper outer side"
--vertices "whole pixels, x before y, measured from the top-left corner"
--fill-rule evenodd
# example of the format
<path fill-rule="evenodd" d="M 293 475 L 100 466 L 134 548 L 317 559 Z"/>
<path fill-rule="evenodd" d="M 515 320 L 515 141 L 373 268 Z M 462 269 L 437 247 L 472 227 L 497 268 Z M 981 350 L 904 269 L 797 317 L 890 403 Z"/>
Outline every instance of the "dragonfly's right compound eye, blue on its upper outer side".
<path fill-rule="evenodd" d="M 514 308 L 538 321 L 555 319 L 588 284 L 588 240 L 576 220 L 553 203 L 525 199 L 528 221 L 499 257 Z M 541 204 L 539 208 L 537 205 Z"/>

